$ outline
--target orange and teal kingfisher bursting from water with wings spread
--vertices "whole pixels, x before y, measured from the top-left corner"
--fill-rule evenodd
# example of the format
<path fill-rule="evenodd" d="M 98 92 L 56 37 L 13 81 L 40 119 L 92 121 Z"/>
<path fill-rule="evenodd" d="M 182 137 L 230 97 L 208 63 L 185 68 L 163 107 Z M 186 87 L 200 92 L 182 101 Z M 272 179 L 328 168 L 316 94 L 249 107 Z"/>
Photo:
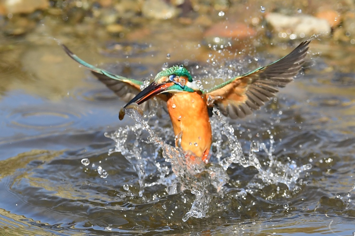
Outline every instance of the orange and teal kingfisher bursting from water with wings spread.
<path fill-rule="evenodd" d="M 209 90 L 203 90 L 183 65 L 160 71 L 145 87 L 139 80 L 92 66 L 65 45 L 62 47 L 73 60 L 89 68 L 109 89 L 128 102 L 123 108 L 136 103 L 146 111 L 156 108 L 156 114 L 167 108 L 174 133 L 176 137 L 180 136 L 179 145 L 186 157 L 208 163 L 212 144 L 209 109 L 215 106 L 232 119 L 244 118 L 260 109 L 279 88 L 293 81 L 302 68 L 311 40 L 303 41 L 288 55 L 267 66 L 226 80 Z"/>

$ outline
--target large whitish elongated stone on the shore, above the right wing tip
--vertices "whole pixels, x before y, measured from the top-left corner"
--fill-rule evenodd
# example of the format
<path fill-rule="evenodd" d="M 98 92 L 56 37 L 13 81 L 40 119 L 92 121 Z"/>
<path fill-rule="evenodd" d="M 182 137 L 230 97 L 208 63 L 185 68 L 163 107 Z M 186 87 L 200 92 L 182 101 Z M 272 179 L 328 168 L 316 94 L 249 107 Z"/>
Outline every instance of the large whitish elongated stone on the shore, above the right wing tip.
<path fill-rule="evenodd" d="M 331 33 L 331 25 L 326 19 L 310 15 L 286 16 L 280 13 L 268 13 L 265 18 L 280 38 L 295 39 L 299 36 L 310 37 L 313 34 L 328 36 Z"/>

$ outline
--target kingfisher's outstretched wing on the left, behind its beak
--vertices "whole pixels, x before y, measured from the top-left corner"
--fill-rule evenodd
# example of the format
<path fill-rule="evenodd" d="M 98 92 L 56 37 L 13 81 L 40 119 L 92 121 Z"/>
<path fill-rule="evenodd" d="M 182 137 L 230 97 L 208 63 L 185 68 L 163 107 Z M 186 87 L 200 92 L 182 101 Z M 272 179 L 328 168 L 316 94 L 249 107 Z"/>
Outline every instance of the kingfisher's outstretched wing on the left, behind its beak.
<path fill-rule="evenodd" d="M 62 44 L 62 47 L 66 54 L 68 54 L 73 60 L 82 64 L 83 66 L 89 68 L 91 72 L 109 89 L 115 92 L 123 101 L 129 102 L 133 97 L 135 97 L 140 91 L 140 87 L 143 82 L 135 79 L 130 79 L 123 77 L 121 75 L 116 75 L 111 72 L 108 72 L 104 69 L 97 68 L 82 59 L 80 59 L 77 55 L 73 54 L 65 45 Z M 168 100 L 167 96 L 164 94 L 159 94 L 156 96 L 156 99 L 149 99 L 148 101 L 142 103 L 141 107 L 145 111 L 152 111 L 154 108 L 157 109 L 157 115 L 161 116 L 162 108 L 166 107 L 165 103 Z"/>

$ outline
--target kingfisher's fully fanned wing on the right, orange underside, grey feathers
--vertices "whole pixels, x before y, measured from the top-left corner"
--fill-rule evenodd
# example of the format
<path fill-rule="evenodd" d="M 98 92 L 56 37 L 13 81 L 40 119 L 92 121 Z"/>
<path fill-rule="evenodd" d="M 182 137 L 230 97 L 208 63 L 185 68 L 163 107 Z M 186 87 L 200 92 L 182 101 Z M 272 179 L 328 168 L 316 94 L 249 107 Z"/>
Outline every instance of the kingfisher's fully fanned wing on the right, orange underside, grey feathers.
<path fill-rule="evenodd" d="M 293 80 L 302 67 L 311 41 L 302 42 L 290 54 L 268 66 L 215 86 L 205 92 L 206 96 L 225 116 L 236 119 L 251 114 L 269 101 L 279 91 L 278 88 L 283 88 Z"/>

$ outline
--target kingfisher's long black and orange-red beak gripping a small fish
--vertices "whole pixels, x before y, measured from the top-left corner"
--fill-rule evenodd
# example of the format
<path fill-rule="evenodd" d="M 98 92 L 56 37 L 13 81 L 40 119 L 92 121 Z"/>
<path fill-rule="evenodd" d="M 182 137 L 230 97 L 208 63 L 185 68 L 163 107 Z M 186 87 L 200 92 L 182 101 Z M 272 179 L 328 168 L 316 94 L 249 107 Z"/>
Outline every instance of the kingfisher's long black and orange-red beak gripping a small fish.
<path fill-rule="evenodd" d="M 174 83 L 161 83 L 157 84 L 155 82 L 152 82 L 151 84 L 148 85 L 147 88 L 143 89 L 139 94 L 137 94 L 131 101 L 129 101 L 123 108 L 126 108 L 128 105 L 131 103 L 135 102 L 138 105 L 141 103 L 149 100 L 151 97 L 160 94 L 164 90 L 166 90 L 168 87 L 171 85 L 174 85 Z"/>

